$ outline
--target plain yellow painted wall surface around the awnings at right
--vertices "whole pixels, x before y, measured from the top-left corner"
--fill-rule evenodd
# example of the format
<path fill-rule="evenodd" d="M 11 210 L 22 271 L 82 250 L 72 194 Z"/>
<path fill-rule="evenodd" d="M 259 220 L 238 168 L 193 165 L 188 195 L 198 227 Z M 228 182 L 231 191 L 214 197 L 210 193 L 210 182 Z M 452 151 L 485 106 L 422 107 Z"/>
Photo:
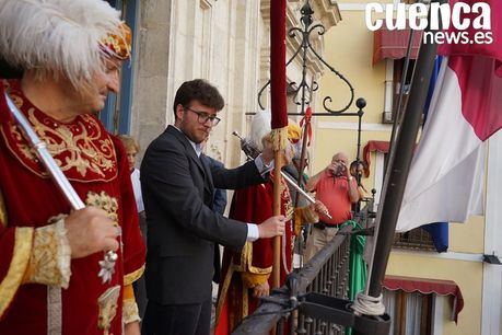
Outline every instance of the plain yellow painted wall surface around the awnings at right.
<path fill-rule="evenodd" d="M 338 3 L 362 3 L 372 1 L 343 0 Z M 385 1 L 381 1 L 385 2 Z M 354 86 L 355 99 L 363 96 L 367 106 L 363 117 L 364 124 L 382 125 L 385 90 L 385 61 L 372 66 L 373 33 L 367 31 L 364 23 L 364 11 L 341 11 L 342 21 L 326 34 L 326 60 Z M 332 109 L 347 104 L 348 91 L 340 80 L 326 69 L 325 76 L 319 80 L 320 89 L 317 94 L 318 111 L 322 112 L 322 101 L 331 96 Z M 352 112 L 357 111 L 355 104 Z M 318 117 L 317 125 L 329 123 L 357 123 L 357 117 Z M 335 127 L 336 128 L 336 127 Z M 355 158 L 357 131 L 316 128 L 314 130 L 315 145 L 312 155 L 312 173 L 317 173 L 330 161 L 334 153 L 345 151 L 349 160 Z M 389 131 L 363 131 L 362 149 L 369 140 L 387 140 Z M 440 158 L 439 158 L 440 159 Z M 375 154 L 372 154 L 371 177 L 364 181 L 367 189 L 374 185 Z M 483 251 L 485 219 L 474 217 L 465 224 L 451 224 L 450 252 L 480 254 Z M 448 321 L 445 314 L 443 334 L 480 333 L 481 324 L 481 297 L 482 297 L 482 263 L 455 261 L 435 257 L 435 253 L 402 253 L 395 252 L 390 255 L 387 274 L 413 276 L 423 278 L 437 278 L 454 280 L 462 289 L 465 308 L 459 315 L 458 325 Z M 450 312 L 451 309 L 445 307 Z"/>

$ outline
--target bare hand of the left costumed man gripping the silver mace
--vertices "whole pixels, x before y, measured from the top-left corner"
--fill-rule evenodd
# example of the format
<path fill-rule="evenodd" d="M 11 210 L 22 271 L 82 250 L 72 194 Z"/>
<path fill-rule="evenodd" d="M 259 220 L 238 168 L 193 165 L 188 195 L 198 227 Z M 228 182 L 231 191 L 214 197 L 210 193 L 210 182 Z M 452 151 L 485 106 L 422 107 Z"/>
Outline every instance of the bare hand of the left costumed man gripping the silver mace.
<path fill-rule="evenodd" d="M 96 207 L 71 212 L 65 219 L 71 258 L 81 258 L 102 251 L 116 251 L 120 229 Z"/>

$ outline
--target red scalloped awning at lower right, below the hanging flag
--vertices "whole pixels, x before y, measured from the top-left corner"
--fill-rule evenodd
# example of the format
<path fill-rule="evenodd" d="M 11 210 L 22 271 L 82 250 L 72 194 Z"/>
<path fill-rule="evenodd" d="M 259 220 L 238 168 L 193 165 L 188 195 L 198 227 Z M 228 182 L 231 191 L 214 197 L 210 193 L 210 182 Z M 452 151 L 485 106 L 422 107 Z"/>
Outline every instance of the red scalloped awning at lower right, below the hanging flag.
<path fill-rule="evenodd" d="M 464 298 L 458 285 L 453 280 L 427 279 L 404 276 L 385 276 L 383 287 L 387 290 L 402 290 L 408 293 L 451 296 L 453 299 L 453 319 L 458 320 L 458 314 L 464 308 Z"/>

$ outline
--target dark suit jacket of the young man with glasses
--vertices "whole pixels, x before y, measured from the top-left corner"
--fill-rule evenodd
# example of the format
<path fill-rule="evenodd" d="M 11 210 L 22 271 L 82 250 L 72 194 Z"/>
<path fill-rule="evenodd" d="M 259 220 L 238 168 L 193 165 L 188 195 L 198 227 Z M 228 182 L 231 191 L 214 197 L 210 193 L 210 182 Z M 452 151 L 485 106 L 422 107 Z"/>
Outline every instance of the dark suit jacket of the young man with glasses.
<path fill-rule="evenodd" d="M 211 298 L 214 243 L 240 251 L 244 222 L 212 211 L 218 188 L 262 183 L 254 162 L 210 168 L 173 126 L 147 149 L 141 187 L 148 223 L 147 292 L 161 304 L 200 303 Z"/>

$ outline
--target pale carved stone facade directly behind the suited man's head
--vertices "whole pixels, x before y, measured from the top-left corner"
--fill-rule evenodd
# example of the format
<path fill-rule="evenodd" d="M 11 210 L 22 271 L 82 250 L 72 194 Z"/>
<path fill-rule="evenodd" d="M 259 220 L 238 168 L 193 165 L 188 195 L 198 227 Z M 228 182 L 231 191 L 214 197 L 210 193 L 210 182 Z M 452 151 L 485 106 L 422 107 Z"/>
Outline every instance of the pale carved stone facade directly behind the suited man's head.
<path fill-rule="evenodd" d="M 247 134 L 250 116 L 246 113 L 259 109 L 258 91 L 270 79 L 270 0 L 109 2 L 121 8 L 133 26 L 135 46 L 130 67 L 122 74 L 125 91 L 102 116 L 108 129 L 131 134 L 144 149 L 174 123 L 176 89 L 186 80 L 203 78 L 225 99 L 222 122 L 210 137 L 208 154 L 227 166 L 238 165 L 243 155 L 232 132 Z M 288 1 L 288 27 L 301 26 L 303 4 L 300 0 Z M 315 22 L 326 28 L 340 20 L 336 2 L 317 0 L 311 4 Z M 324 53 L 324 36 L 317 34 L 311 43 Z M 288 38 L 288 60 L 299 47 L 297 39 Z M 323 71 L 320 61 L 308 62 L 310 78 L 319 78 Z M 288 67 L 288 81 L 297 80 L 301 72 L 300 59 L 293 60 Z M 264 107 L 269 106 L 267 93 L 266 89 Z M 124 104 L 126 95 L 129 99 Z M 294 103 L 289 106 L 295 112 Z"/>

